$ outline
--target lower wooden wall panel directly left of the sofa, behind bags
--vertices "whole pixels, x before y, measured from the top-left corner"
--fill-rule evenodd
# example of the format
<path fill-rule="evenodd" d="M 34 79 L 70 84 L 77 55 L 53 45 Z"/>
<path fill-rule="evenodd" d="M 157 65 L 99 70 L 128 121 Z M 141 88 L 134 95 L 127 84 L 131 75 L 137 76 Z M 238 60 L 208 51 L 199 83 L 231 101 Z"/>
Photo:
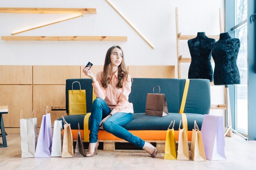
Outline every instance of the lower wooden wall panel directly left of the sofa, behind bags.
<path fill-rule="evenodd" d="M 52 124 L 61 116 L 66 115 L 66 111 L 51 111 L 52 106 L 65 106 L 65 85 L 34 85 L 33 86 L 33 109 L 36 110 L 37 126 L 41 126 L 45 109 L 49 106 Z"/>

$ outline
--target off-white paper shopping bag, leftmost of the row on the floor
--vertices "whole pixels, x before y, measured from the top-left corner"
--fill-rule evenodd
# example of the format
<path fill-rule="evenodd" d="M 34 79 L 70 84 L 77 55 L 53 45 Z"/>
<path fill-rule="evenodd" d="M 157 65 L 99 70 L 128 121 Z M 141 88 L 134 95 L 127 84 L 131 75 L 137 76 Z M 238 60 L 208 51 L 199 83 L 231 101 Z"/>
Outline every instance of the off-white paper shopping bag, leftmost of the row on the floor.
<path fill-rule="evenodd" d="M 33 118 L 33 113 L 35 117 Z M 33 110 L 32 118 L 23 119 L 22 111 L 20 112 L 20 145 L 21 157 L 35 157 L 37 143 L 37 118 L 36 111 Z"/>

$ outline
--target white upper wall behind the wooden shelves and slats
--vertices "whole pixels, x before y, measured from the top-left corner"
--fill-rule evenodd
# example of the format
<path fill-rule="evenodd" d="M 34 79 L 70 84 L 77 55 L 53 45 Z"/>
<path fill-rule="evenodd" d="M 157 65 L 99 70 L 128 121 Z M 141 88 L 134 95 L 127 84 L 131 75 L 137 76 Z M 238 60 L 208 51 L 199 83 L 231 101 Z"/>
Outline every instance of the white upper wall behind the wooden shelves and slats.
<path fill-rule="evenodd" d="M 175 7 L 179 8 L 179 30 L 183 35 L 196 35 L 197 32 L 218 35 L 219 8 L 224 13 L 224 0 L 110 1 L 155 49 L 151 49 L 105 0 L 1 0 L 0 7 L 97 9 L 97 14 L 85 14 L 74 20 L 18 34 L 20 36 L 128 36 L 128 41 L 0 40 L 0 65 L 85 65 L 88 61 L 103 65 L 108 48 L 119 45 L 124 50 L 127 65 L 175 65 L 176 68 Z M 0 13 L 0 35 L 9 36 L 13 32 L 73 16 L 76 15 Z M 181 42 L 180 52 L 189 57 L 186 41 Z M 182 78 L 187 77 L 188 68 L 189 63 L 182 63 Z M 211 90 L 212 103 L 221 104 L 224 102 L 223 88 L 215 89 Z"/>

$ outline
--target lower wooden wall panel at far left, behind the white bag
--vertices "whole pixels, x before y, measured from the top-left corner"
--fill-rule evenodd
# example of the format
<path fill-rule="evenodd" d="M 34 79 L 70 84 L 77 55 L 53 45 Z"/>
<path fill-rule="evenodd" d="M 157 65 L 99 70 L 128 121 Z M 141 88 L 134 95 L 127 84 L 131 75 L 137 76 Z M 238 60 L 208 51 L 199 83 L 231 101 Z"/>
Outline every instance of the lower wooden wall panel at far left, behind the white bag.
<path fill-rule="evenodd" d="M 32 85 L 0 85 L 0 93 L 1 105 L 8 105 L 4 127 L 20 127 L 20 111 L 23 118 L 32 117 Z"/>

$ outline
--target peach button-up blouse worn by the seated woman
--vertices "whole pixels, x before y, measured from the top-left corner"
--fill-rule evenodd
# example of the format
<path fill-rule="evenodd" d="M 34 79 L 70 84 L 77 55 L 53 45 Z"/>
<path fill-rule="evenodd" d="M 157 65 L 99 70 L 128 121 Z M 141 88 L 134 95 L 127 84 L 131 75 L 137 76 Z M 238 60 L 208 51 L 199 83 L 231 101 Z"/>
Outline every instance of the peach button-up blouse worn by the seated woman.
<path fill-rule="evenodd" d="M 117 112 L 133 113 L 133 105 L 128 101 L 128 96 L 131 92 L 132 86 L 130 74 L 128 75 L 128 80 L 124 80 L 124 85 L 121 89 L 117 88 L 117 76 L 118 71 L 115 72 L 112 78 L 110 78 L 110 84 L 108 84 L 108 87 L 105 89 L 101 84 L 103 71 L 98 72 L 96 78 L 97 81 L 92 83 L 95 95 L 98 98 L 105 100 L 106 104 L 111 110 L 111 115 Z"/>

